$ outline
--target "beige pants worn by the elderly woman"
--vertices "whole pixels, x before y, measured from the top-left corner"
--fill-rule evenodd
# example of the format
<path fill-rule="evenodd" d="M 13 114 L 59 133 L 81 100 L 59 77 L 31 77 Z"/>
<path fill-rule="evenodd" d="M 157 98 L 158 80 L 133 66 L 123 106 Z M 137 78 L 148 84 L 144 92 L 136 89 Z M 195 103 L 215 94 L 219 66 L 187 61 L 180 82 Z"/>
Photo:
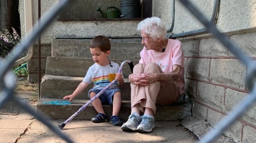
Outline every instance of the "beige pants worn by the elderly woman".
<path fill-rule="evenodd" d="M 133 68 L 133 74 L 138 73 L 164 73 L 159 65 L 137 64 Z M 136 106 L 140 111 L 151 108 L 156 113 L 156 105 L 168 106 L 177 101 L 180 97 L 179 88 L 175 81 L 156 81 L 147 86 L 130 84 L 131 107 Z"/>

